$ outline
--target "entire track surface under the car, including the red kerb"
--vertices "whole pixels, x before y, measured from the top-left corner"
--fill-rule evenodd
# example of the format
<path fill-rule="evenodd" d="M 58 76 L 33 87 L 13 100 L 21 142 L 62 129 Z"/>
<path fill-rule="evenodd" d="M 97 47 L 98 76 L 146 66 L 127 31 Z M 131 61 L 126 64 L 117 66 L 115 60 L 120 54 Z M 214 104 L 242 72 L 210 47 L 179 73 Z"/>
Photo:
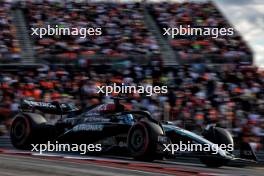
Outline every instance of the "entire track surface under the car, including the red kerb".
<path fill-rule="evenodd" d="M 0 137 L 0 176 L 254 176 L 264 175 L 263 165 L 207 168 L 192 159 L 138 162 L 126 157 L 81 156 L 46 153 L 39 155 L 12 148 Z"/>

